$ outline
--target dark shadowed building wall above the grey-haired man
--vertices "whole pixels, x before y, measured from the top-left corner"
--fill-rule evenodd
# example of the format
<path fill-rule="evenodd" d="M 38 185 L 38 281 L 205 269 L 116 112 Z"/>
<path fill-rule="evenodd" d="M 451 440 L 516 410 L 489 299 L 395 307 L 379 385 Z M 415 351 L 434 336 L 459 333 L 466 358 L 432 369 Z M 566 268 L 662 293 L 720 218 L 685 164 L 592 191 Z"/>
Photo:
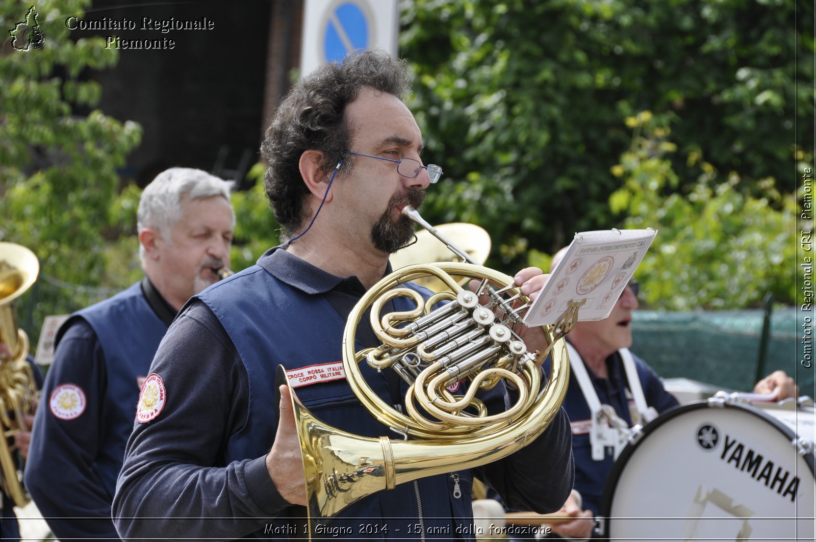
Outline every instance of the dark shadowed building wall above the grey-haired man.
<path fill-rule="evenodd" d="M 284 72 L 293 65 L 293 52 L 299 51 L 301 9 L 299 0 L 127 6 L 94 2 L 83 17 L 86 23 L 127 20 L 136 28 L 78 29 L 75 38 L 175 41 L 172 49 L 121 48 L 113 69 L 87 74 L 102 85 L 99 107 L 104 113 L 143 127 L 142 143 L 131 153 L 123 176 L 144 186 L 171 166 L 198 167 L 237 180 L 245 174 L 259 159 L 269 112 L 264 107 L 270 100 L 268 85 L 274 82 L 271 92 L 276 98 L 288 89 L 281 85 L 288 80 Z M 214 28 L 162 33 L 143 29 L 143 17 L 173 22 L 203 17 Z M 296 26 L 282 17 L 295 18 Z M 239 165 L 242 171 L 224 171 Z"/>

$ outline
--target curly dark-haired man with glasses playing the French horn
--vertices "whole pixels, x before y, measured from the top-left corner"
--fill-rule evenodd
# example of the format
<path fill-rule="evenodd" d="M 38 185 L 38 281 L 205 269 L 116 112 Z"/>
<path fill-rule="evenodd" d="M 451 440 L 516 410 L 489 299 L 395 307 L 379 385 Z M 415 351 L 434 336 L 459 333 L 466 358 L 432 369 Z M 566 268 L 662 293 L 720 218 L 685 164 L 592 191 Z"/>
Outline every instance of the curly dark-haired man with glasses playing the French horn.
<path fill-rule="evenodd" d="M 349 313 L 391 272 L 388 256 L 411 242 L 414 224 L 402 208 L 419 207 L 441 175 L 420 158 L 422 134 L 402 102 L 409 91 L 406 63 L 367 51 L 308 74 L 277 109 L 262 151 L 283 244 L 193 298 L 162 341 L 151 376 L 164 393 L 163 408 L 135 424 L 113 501 L 123 537 L 285 540 L 302 533 L 304 460 L 289 389 L 275 384 L 279 365 L 326 424 L 370 438 L 396 436 L 361 406 L 339 360 Z M 516 275 L 524 293 L 545 281 L 540 269 Z M 546 348 L 540 328 L 519 335 L 530 350 Z M 379 344 L 368 318 L 357 342 Z M 360 368 L 381 400 L 405 411 L 405 381 L 391 369 Z M 462 393 L 466 384 L 458 384 Z M 490 412 L 511 400 L 502 384 L 480 398 Z M 567 421 L 558 409 L 539 438 L 479 469 L 455 471 L 453 457 L 455 472 L 367 495 L 317 536 L 473 540 L 475 470 L 516 506 L 558 509 L 572 486 Z M 317 482 L 327 482 L 327 491 L 368 483 L 335 478 L 332 466 Z"/>

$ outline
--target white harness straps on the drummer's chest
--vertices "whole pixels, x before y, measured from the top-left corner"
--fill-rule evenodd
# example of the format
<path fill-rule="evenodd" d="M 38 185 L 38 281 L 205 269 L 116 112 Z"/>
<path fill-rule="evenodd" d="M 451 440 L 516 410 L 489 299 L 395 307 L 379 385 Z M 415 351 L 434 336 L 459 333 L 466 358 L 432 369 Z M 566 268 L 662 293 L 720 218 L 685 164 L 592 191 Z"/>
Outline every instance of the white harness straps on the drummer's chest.
<path fill-rule="evenodd" d="M 641 425 L 636 424 L 635 427 L 630 428 L 626 420 L 623 420 L 614 411 L 613 407 L 601 405 L 601 400 L 598 398 L 594 386 L 592 386 L 592 381 L 589 380 L 587 367 L 583 364 L 583 359 L 581 359 L 578 350 L 570 343 L 566 344 L 566 349 L 570 356 L 570 368 L 578 380 L 592 418 L 592 429 L 589 432 L 589 442 L 592 445 L 592 460 L 604 460 L 604 448 L 606 446 L 612 447 L 614 459 L 618 459 L 623 446 L 626 446 L 629 438 L 641 429 Z M 657 417 L 658 412 L 654 410 L 654 407 L 646 407 L 641 379 L 637 375 L 632 353 L 628 349 L 619 349 L 618 353 L 623 360 L 623 369 L 626 371 L 626 378 L 629 381 L 629 390 L 632 392 L 637 411 L 641 413 L 641 420 L 643 423 L 650 422 Z"/>

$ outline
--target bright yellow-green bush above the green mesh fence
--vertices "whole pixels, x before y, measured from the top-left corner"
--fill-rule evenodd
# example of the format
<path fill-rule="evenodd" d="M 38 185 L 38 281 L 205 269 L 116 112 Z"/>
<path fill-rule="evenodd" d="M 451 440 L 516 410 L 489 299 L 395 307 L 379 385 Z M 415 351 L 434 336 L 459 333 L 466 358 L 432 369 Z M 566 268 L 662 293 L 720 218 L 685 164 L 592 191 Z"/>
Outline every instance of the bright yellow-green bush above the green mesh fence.
<path fill-rule="evenodd" d="M 716 170 L 702 153 L 685 157 L 694 184 L 677 190 L 676 145 L 663 119 L 628 119 L 638 134 L 612 173 L 623 179 L 610 197 L 626 228 L 653 227 L 657 238 L 637 277 L 652 308 L 759 307 L 765 293 L 796 303 L 796 198 L 773 178 L 746 189 L 735 171 Z"/>

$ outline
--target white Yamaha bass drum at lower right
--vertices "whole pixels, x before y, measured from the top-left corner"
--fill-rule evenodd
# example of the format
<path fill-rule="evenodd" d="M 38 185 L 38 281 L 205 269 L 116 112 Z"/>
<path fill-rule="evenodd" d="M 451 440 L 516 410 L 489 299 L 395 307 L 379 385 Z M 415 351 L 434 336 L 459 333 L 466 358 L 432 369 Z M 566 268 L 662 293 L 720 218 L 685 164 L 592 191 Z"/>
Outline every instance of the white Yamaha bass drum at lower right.
<path fill-rule="evenodd" d="M 611 540 L 814 539 L 814 408 L 710 399 L 667 411 L 615 462 Z"/>

